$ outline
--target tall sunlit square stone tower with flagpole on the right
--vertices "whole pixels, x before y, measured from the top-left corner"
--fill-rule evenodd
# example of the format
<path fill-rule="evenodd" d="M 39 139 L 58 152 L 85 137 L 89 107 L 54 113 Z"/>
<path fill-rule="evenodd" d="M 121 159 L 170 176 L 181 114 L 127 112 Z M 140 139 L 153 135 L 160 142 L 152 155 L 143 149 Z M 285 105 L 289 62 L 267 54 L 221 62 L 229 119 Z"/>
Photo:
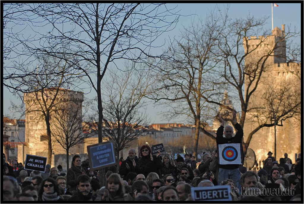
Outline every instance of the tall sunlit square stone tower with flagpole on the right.
<path fill-rule="evenodd" d="M 259 69 L 261 64 L 257 64 L 257 60 L 262 59 L 261 62 L 264 63 L 260 82 L 248 105 L 250 111 L 247 112 L 244 123 L 244 141 L 259 125 L 274 123 L 277 116 L 301 101 L 301 63 L 286 61 L 284 37 L 285 25 L 282 25 L 282 30 L 276 27 L 271 36 L 251 36 L 244 39 L 245 52 L 249 51 L 245 66 L 256 66 Z M 269 54 L 264 61 L 263 56 Z M 245 89 L 249 81 L 247 77 Z M 300 112 L 300 106 L 297 112 Z M 295 154 L 301 150 L 300 119 L 300 113 L 294 114 L 276 126 L 262 127 L 254 133 L 249 148 L 254 150 L 256 160 L 263 161 L 267 158 L 268 151 L 275 153 L 276 143 L 276 155 L 273 155 L 276 160 L 279 161 L 284 153 L 288 153 L 288 157 L 294 161 Z"/>

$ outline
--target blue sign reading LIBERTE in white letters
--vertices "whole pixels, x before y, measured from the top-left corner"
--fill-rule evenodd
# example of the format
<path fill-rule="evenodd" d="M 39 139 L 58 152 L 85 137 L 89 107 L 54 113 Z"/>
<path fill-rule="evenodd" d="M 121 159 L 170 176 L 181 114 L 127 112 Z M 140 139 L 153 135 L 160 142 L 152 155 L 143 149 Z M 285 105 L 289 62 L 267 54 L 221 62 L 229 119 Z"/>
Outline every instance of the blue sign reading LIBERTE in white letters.
<path fill-rule="evenodd" d="M 228 201 L 232 200 L 229 185 L 208 186 L 191 188 L 191 196 L 193 200 L 212 200 L 212 201 Z"/>

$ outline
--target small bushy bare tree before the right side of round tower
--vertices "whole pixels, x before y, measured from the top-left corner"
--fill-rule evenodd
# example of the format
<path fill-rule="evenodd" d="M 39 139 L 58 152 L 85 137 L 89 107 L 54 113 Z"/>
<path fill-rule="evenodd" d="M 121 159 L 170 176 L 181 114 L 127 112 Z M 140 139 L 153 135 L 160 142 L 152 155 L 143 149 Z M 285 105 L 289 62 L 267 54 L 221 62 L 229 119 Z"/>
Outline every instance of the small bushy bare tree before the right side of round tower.
<path fill-rule="evenodd" d="M 66 150 L 67 168 L 69 168 L 69 150 L 85 142 L 91 134 L 83 132 L 82 99 L 73 99 L 71 103 L 56 107 L 52 114 L 51 131 L 54 142 Z"/>

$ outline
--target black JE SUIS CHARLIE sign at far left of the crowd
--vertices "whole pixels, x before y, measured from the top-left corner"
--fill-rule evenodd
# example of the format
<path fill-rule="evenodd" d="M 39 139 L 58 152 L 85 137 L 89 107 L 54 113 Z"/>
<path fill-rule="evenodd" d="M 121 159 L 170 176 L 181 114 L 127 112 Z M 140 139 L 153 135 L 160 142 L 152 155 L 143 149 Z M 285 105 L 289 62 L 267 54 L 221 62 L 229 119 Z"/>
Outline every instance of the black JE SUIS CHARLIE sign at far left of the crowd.
<path fill-rule="evenodd" d="M 26 154 L 24 169 L 45 172 L 47 157 Z"/>

